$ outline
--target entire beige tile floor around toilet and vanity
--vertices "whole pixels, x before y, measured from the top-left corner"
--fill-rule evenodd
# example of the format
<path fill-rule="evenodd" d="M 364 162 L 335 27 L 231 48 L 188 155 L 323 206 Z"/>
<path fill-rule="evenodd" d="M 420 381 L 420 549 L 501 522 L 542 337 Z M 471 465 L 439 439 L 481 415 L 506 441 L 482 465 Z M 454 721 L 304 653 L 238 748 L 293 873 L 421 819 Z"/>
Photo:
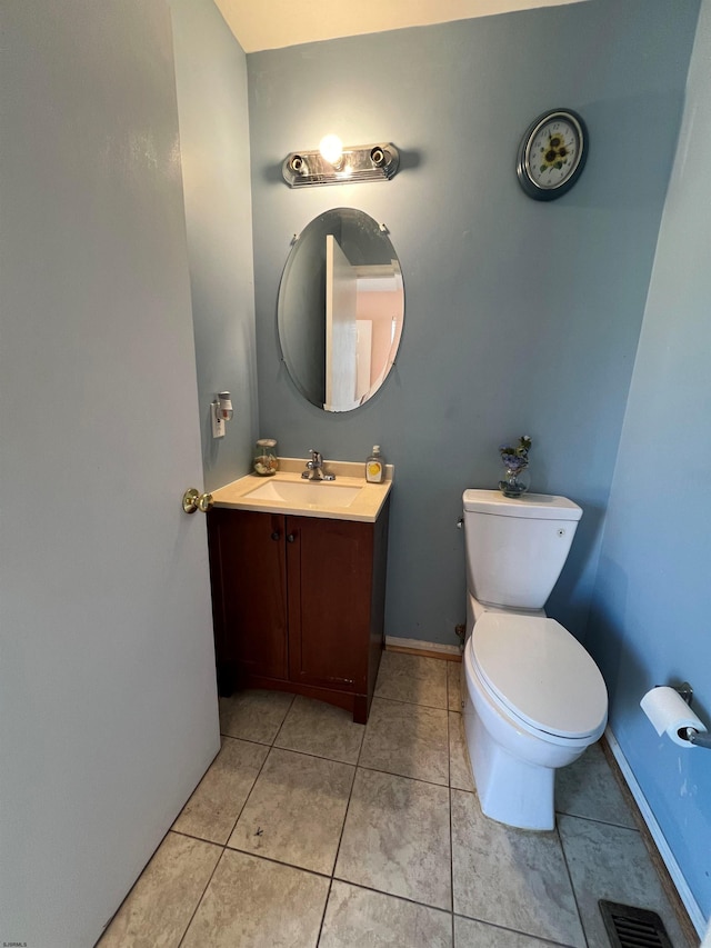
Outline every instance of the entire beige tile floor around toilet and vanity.
<path fill-rule="evenodd" d="M 554 831 L 482 816 L 459 668 L 385 652 L 367 727 L 222 699 L 222 749 L 100 948 L 609 948 L 599 898 L 689 948 L 600 747 L 561 771 Z"/>

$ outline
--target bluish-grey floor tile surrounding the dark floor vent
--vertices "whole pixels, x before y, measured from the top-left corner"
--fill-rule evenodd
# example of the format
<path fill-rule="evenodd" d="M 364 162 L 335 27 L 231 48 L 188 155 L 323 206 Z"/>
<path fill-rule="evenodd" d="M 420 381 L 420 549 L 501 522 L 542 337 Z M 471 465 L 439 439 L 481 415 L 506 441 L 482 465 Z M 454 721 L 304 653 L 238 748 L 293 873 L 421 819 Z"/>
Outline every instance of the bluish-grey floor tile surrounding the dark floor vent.
<path fill-rule="evenodd" d="M 688 948 L 637 830 L 569 816 L 558 827 L 590 948 L 609 946 L 598 899 L 658 912 L 674 948 Z"/>

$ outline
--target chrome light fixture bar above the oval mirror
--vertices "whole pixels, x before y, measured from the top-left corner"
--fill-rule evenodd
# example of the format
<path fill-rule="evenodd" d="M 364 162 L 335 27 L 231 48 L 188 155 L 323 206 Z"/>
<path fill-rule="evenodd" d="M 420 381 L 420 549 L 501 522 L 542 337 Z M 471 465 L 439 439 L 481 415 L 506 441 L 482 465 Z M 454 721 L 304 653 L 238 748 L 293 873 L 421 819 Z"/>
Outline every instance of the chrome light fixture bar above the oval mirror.
<path fill-rule="evenodd" d="M 320 151 L 292 151 L 281 166 L 290 188 L 309 184 L 356 184 L 359 181 L 389 181 L 398 172 L 400 153 L 391 142 L 344 148 L 334 163 Z"/>

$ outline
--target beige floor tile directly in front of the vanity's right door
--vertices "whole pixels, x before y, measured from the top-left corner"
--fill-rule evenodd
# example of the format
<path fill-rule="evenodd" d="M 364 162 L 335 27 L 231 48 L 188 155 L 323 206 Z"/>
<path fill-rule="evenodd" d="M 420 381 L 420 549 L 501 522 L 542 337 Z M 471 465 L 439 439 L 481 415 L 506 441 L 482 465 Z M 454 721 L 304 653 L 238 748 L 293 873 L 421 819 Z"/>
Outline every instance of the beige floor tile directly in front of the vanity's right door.
<path fill-rule="evenodd" d="M 358 764 L 364 732 L 363 725 L 353 722 L 350 711 L 297 695 L 274 747 Z"/>

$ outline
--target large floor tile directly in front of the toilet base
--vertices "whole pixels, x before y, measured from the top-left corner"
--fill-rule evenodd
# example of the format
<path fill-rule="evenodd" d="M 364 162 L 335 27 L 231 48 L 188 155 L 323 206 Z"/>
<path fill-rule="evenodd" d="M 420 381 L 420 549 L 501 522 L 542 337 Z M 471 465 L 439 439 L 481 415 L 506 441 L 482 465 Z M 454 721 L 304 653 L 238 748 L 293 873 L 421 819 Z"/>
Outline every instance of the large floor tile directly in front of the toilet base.
<path fill-rule="evenodd" d="M 555 832 L 488 819 L 474 794 L 452 790 L 454 911 L 575 948 L 584 937 Z"/>

